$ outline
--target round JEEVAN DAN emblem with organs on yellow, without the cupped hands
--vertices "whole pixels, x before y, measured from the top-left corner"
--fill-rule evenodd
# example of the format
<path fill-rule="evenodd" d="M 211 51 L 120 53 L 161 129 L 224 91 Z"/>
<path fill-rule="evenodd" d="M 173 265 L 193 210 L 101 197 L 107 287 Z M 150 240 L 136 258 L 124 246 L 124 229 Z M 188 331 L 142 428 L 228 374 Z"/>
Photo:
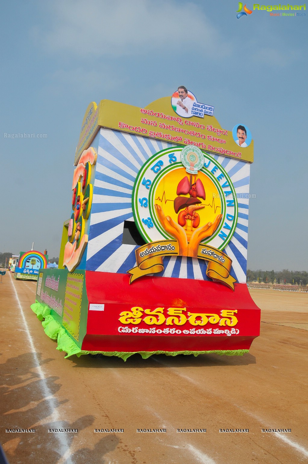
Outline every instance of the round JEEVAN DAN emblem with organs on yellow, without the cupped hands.
<path fill-rule="evenodd" d="M 191 151 L 189 147 L 184 149 L 186 155 Z M 135 224 L 146 243 L 172 239 L 159 210 L 184 228 L 189 241 L 194 230 L 214 223 L 219 216 L 216 229 L 202 244 L 223 250 L 237 224 L 237 198 L 231 179 L 211 155 L 202 152 L 202 166 L 196 174 L 187 174 L 182 153 L 180 147 L 161 150 L 140 169 L 132 199 Z M 189 156 L 196 156 L 199 166 L 197 154 Z"/>

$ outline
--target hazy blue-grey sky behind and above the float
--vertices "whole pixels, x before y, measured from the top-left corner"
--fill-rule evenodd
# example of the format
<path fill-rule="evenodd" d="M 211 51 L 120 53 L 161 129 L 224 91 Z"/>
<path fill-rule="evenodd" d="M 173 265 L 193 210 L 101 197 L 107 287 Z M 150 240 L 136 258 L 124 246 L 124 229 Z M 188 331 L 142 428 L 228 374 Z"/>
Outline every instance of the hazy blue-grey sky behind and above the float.
<path fill-rule="evenodd" d="M 308 8 L 239 19 L 237 9 L 233 0 L 2 4 L 0 252 L 34 242 L 59 256 L 91 101 L 144 108 L 180 83 L 224 129 L 241 121 L 251 131 L 248 268 L 308 271 Z M 39 137 L 8 137 L 16 133 Z"/>

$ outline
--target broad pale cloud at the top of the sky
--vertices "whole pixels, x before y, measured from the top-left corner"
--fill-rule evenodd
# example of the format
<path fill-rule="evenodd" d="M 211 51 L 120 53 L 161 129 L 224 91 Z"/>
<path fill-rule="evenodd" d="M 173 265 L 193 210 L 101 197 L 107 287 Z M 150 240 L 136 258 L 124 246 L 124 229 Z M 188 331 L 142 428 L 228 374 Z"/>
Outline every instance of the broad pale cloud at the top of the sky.
<path fill-rule="evenodd" d="M 189 50 L 221 58 L 230 52 L 199 6 L 175 0 L 56 0 L 45 12 L 49 29 L 33 36 L 50 52 L 80 57 L 157 53 L 189 65 Z M 184 54 L 185 53 L 185 54 Z"/>

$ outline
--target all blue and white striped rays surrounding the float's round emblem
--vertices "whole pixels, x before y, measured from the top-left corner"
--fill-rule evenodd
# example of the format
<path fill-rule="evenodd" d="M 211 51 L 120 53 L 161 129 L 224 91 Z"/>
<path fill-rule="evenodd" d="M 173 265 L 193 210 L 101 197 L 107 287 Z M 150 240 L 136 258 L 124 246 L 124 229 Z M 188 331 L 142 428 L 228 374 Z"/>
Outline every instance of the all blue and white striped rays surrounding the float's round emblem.
<path fill-rule="evenodd" d="M 135 267 L 137 246 L 122 244 L 124 221 L 134 221 L 132 191 L 142 165 L 158 151 L 176 146 L 140 135 L 101 129 L 90 216 L 86 270 L 125 274 Z M 246 281 L 249 163 L 214 156 L 231 177 L 238 198 L 235 233 L 224 252 L 232 259 L 231 274 Z M 156 276 L 205 279 L 206 263 L 196 258 L 166 257 Z"/>

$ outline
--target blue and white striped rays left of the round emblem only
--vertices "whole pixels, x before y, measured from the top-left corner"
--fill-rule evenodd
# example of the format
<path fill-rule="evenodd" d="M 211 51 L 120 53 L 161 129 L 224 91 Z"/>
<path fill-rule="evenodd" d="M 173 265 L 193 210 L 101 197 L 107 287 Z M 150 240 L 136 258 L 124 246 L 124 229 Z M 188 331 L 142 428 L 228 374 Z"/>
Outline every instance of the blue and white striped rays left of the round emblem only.
<path fill-rule="evenodd" d="M 125 274 L 135 266 L 137 246 L 122 244 L 124 221 L 134 221 L 132 191 L 148 158 L 172 145 L 101 129 L 96 161 L 86 269 Z"/>

